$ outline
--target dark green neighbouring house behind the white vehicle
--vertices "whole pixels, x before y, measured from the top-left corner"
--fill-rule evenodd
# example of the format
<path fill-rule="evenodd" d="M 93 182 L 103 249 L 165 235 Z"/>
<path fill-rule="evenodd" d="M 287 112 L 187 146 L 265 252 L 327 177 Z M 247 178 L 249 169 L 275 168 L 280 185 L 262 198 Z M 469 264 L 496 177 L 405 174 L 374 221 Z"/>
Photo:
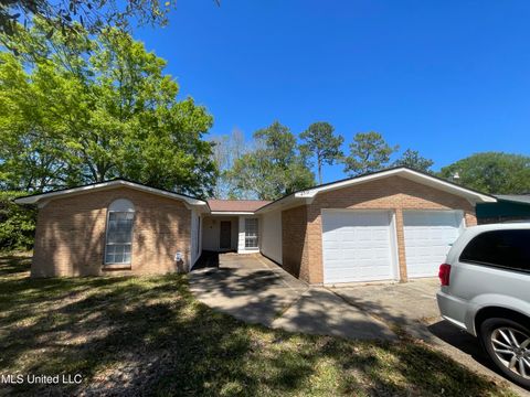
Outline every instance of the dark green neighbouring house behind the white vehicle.
<path fill-rule="evenodd" d="M 530 194 L 495 194 L 496 203 L 478 203 L 478 224 L 530 221 Z"/>

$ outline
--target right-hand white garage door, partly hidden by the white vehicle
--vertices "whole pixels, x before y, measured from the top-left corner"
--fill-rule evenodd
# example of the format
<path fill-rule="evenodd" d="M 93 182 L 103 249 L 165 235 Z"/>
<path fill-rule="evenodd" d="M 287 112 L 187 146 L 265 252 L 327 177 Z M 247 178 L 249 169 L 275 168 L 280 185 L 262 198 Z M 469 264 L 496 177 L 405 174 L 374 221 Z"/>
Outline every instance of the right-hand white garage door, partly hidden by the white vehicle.
<path fill-rule="evenodd" d="M 406 271 L 410 278 L 433 277 L 462 232 L 462 211 L 405 211 Z"/>

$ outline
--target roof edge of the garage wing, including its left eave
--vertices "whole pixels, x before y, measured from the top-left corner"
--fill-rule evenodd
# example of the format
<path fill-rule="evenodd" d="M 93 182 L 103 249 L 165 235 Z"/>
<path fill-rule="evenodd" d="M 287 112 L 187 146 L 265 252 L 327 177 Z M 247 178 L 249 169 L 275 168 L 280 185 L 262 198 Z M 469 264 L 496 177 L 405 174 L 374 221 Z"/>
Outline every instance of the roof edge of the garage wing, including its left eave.
<path fill-rule="evenodd" d="M 451 194 L 463 196 L 473 203 L 495 203 L 497 201 L 497 198 L 494 197 L 492 195 L 480 193 L 473 189 L 460 186 L 456 183 L 448 182 L 441 178 L 437 178 L 421 171 L 416 171 L 407 167 L 396 167 L 396 168 L 381 170 L 381 171 L 377 171 L 377 172 L 372 172 L 372 173 L 368 173 L 368 174 L 363 174 L 354 178 L 348 178 L 348 179 L 336 181 L 336 182 L 325 183 L 310 189 L 298 191 L 261 207 L 257 212 L 263 213 L 263 212 L 268 212 L 276 208 L 285 208 L 288 206 L 310 203 L 312 202 L 315 196 L 321 192 L 329 192 L 337 189 L 352 186 L 356 184 L 375 181 L 375 180 L 380 180 L 389 176 L 405 178 L 411 181 L 448 192 Z"/>

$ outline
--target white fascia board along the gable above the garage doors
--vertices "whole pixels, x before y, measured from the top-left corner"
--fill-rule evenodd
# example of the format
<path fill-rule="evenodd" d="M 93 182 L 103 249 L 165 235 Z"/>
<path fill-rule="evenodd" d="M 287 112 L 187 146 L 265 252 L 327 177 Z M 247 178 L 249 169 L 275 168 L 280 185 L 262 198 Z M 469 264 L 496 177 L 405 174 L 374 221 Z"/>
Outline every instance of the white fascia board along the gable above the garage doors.
<path fill-rule="evenodd" d="M 425 175 L 421 172 L 416 172 L 416 171 L 413 171 L 413 170 L 410 170 L 410 169 L 394 169 L 394 170 L 383 171 L 383 172 L 379 172 L 379 173 L 374 173 L 374 174 L 370 174 L 370 175 L 365 175 L 365 176 L 359 176 L 359 178 L 354 178 L 354 179 L 351 179 L 351 180 L 346 180 L 346 181 L 340 181 L 340 182 L 337 182 L 337 183 L 331 183 L 331 184 L 328 184 L 328 185 L 325 185 L 325 186 L 317 186 L 317 187 L 314 187 L 314 189 L 308 189 L 306 191 L 298 192 L 295 195 L 298 196 L 298 197 L 314 198 L 320 192 L 329 192 L 329 191 L 333 191 L 333 190 L 337 190 L 337 189 L 342 189 L 342 187 L 347 187 L 347 186 L 351 186 L 351 185 L 356 185 L 356 184 L 360 184 L 360 183 L 364 183 L 364 182 L 369 182 L 369 181 L 374 181 L 374 180 L 379 180 L 379 179 L 389 178 L 389 176 L 392 176 L 392 175 L 402 176 L 402 178 L 412 180 L 414 182 L 417 182 L 417 183 L 421 183 L 421 184 L 424 184 L 424 185 L 427 185 L 427 186 L 431 186 L 431 187 L 434 187 L 434 189 L 438 189 L 438 190 L 442 190 L 442 191 L 445 191 L 445 192 L 448 192 L 448 193 L 452 193 L 452 194 L 460 195 L 460 196 L 464 196 L 464 197 L 466 197 L 466 198 L 468 198 L 468 200 L 470 200 L 471 202 L 475 202 L 475 203 L 495 203 L 495 202 L 497 202 L 497 200 L 492 196 L 481 194 L 481 193 L 478 193 L 478 192 L 475 192 L 475 191 L 455 185 L 453 183 L 442 181 L 437 178 Z"/>

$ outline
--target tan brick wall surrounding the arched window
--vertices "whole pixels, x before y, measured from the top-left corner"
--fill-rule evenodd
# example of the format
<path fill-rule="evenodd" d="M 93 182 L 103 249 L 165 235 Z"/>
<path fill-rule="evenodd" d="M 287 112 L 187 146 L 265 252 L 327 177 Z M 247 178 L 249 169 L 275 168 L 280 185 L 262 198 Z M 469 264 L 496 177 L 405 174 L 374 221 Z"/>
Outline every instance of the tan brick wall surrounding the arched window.
<path fill-rule="evenodd" d="M 191 211 L 177 200 L 116 187 L 55 198 L 39 211 L 32 276 L 107 273 L 103 267 L 107 207 L 117 198 L 127 198 L 135 205 L 128 273 L 176 271 L 177 251 L 188 260 Z"/>

